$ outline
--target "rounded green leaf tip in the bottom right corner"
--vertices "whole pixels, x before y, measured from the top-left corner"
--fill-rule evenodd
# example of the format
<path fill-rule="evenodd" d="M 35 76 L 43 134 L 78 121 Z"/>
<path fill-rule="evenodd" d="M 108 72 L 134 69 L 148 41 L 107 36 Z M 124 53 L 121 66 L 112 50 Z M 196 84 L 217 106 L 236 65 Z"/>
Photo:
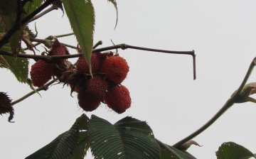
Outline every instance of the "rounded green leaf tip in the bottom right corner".
<path fill-rule="evenodd" d="M 255 155 L 247 148 L 238 145 L 237 143 L 223 143 L 216 152 L 218 159 L 247 159 L 255 158 Z"/>

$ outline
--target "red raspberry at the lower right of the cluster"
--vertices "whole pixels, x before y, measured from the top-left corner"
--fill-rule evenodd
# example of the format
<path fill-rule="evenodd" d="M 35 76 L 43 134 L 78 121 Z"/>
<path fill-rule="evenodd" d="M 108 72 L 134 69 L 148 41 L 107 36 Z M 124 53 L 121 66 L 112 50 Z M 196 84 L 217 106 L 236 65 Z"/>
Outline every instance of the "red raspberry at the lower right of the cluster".
<path fill-rule="evenodd" d="M 129 96 L 129 90 L 123 85 L 112 87 L 107 90 L 104 96 L 104 101 L 111 109 L 118 114 L 122 114 L 131 106 L 131 97 Z"/>

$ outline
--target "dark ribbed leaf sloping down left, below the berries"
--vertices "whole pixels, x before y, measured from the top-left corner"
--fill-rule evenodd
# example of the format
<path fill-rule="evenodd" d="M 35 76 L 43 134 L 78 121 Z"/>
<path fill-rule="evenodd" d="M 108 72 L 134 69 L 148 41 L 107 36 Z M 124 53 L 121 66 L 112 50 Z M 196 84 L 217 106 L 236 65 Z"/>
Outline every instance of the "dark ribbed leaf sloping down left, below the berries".
<path fill-rule="evenodd" d="M 70 128 L 69 131 L 60 134 L 48 145 L 44 146 L 35 153 L 29 155 L 26 159 L 63 159 L 69 158 L 73 154 L 80 138 L 80 124 L 86 121 L 87 116 L 82 114 L 76 121 L 75 124 Z"/>

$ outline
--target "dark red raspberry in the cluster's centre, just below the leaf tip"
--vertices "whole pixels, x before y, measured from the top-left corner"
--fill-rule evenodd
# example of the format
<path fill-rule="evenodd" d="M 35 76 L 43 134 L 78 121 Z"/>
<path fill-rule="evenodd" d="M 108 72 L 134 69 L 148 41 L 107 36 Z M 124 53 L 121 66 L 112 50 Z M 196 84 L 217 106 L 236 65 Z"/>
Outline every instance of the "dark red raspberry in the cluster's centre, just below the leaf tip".
<path fill-rule="evenodd" d="M 87 80 L 86 89 L 87 92 L 95 94 L 97 97 L 103 97 L 107 91 L 107 81 L 102 79 L 100 75 L 94 75 L 92 78 Z"/>

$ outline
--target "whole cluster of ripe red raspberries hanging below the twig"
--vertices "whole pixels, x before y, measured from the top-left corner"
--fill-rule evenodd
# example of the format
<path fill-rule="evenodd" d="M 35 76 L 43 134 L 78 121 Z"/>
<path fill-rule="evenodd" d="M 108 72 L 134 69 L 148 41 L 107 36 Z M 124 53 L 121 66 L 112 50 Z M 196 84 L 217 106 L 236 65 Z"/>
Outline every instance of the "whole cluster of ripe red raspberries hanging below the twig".
<path fill-rule="evenodd" d="M 49 55 L 68 55 L 68 50 L 55 40 Z M 85 111 L 94 111 L 105 103 L 122 114 L 131 106 L 131 97 L 122 81 L 127 77 L 129 65 L 119 55 L 113 53 L 92 53 L 91 69 L 85 57 L 79 57 L 75 65 L 66 59 L 55 62 L 38 60 L 31 67 L 33 85 L 41 87 L 52 77 L 68 84 L 72 92 L 78 93 L 78 104 Z"/>

